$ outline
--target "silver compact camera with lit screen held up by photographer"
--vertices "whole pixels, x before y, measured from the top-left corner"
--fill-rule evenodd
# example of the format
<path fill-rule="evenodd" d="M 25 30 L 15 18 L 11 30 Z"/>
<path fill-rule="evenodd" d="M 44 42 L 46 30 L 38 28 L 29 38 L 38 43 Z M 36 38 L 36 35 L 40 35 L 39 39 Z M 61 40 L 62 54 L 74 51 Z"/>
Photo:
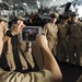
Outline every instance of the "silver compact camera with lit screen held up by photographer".
<path fill-rule="evenodd" d="M 33 42 L 36 35 L 42 34 L 42 26 L 25 26 L 20 33 L 21 42 Z"/>

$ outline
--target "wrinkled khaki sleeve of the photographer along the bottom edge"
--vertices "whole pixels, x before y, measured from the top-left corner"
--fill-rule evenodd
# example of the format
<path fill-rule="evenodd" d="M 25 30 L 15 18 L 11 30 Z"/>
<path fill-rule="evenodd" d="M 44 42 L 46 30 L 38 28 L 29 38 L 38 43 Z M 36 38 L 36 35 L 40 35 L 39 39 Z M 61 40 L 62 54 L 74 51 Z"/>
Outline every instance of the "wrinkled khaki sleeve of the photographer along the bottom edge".
<path fill-rule="evenodd" d="M 55 82 L 48 70 L 38 72 L 20 73 L 0 70 L 0 82 Z"/>

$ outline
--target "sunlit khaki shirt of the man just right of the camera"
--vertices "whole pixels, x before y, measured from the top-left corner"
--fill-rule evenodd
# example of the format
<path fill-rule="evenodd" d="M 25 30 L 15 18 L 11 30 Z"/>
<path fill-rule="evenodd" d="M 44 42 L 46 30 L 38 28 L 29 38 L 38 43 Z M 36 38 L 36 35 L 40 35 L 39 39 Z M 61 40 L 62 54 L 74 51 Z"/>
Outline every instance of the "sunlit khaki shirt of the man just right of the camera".
<path fill-rule="evenodd" d="M 52 48 L 57 44 L 57 33 L 58 33 L 57 25 L 54 25 L 52 23 L 47 23 L 44 26 L 43 34 L 46 35 L 48 39 L 50 50 L 52 50 Z"/>

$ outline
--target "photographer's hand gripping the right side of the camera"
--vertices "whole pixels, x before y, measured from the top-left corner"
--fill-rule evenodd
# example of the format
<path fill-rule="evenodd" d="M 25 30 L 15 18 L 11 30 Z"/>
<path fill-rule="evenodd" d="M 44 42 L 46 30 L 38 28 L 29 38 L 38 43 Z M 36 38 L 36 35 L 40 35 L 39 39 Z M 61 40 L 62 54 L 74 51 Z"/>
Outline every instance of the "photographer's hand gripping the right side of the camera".
<path fill-rule="evenodd" d="M 38 35 L 36 36 L 36 43 L 39 45 L 42 48 L 48 48 L 48 42 L 46 36 L 44 35 Z"/>

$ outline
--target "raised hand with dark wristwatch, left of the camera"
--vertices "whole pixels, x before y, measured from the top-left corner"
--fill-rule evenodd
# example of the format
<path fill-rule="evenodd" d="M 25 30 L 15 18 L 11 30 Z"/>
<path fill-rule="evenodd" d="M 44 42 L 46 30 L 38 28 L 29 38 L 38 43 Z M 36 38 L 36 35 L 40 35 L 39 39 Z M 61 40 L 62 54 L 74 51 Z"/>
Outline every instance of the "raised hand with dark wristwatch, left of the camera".
<path fill-rule="evenodd" d="M 21 23 L 20 24 L 13 24 L 11 27 L 11 34 L 17 35 L 22 31 L 23 27 L 25 27 L 24 24 L 21 24 Z"/>

